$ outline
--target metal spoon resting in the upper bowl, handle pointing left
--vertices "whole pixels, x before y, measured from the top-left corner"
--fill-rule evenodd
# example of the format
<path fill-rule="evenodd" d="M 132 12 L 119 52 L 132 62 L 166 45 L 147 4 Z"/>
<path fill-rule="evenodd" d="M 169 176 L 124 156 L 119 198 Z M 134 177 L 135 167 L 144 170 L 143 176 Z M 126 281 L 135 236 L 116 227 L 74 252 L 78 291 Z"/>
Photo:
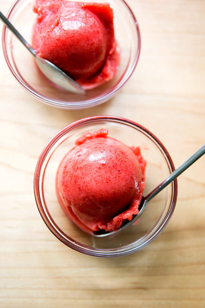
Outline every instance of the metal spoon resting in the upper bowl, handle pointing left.
<path fill-rule="evenodd" d="M 8 27 L 13 34 L 21 41 L 21 43 L 30 51 L 30 53 L 35 57 L 36 63 L 40 68 L 41 72 L 53 83 L 57 84 L 59 87 L 71 91 L 74 93 L 86 95 L 86 91 L 68 75 L 66 75 L 60 68 L 55 66 L 48 60 L 42 59 L 36 55 L 35 50 L 26 42 L 22 35 L 14 28 L 10 21 L 2 14 L 0 11 L 0 19 Z"/>

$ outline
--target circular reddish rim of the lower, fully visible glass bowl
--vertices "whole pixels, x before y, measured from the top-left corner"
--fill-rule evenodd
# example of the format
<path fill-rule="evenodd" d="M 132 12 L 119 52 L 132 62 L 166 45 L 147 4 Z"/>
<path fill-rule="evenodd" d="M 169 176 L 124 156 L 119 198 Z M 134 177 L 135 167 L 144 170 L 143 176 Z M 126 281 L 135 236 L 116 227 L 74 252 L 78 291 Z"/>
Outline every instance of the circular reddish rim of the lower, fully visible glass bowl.
<path fill-rule="evenodd" d="M 43 219 L 43 221 L 45 222 L 46 226 L 48 227 L 48 229 L 62 242 L 64 243 L 66 246 L 90 255 L 90 256 L 95 256 L 95 257 L 119 257 L 119 256 L 124 256 L 124 255 L 128 255 L 130 253 L 134 253 L 142 248 L 144 248 L 145 246 L 147 246 L 148 244 L 150 244 L 156 237 L 158 237 L 160 235 L 160 233 L 164 230 L 164 228 L 166 227 L 166 225 L 168 224 L 168 222 L 171 219 L 171 216 L 174 212 L 175 209 L 175 205 L 176 205 L 176 201 L 177 201 L 177 193 L 178 193 L 178 185 L 177 185 L 177 179 L 175 179 L 171 184 L 172 184 L 172 196 L 171 196 L 171 202 L 170 202 L 170 206 L 169 206 L 169 211 L 166 213 L 166 216 L 164 217 L 164 220 L 160 223 L 160 225 L 157 227 L 157 230 L 155 231 L 155 233 L 152 235 L 152 237 L 148 238 L 142 245 L 140 245 L 139 248 L 135 248 L 132 245 L 129 246 L 129 248 L 123 248 L 123 249 L 114 249 L 114 250 L 106 250 L 106 249 L 102 249 L 102 250 L 96 250 L 96 249 L 89 249 L 88 246 L 86 246 L 88 249 L 85 249 L 85 247 L 79 246 L 79 245 L 75 245 L 76 241 L 70 242 L 67 239 L 65 239 L 65 237 L 63 237 L 58 231 L 57 229 L 54 228 L 54 226 L 51 224 L 51 222 L 49 221 L 43 206 L 41 204 L 41 197 L 40 197 L 40 187 L 39 187 L 39 174 L 41 171 L 41 166 L 44 162 L 45 156 L 47 155 L 47 153 L 49 152 L 49 150 L 52 148 L 53 143 L 55 143 L 61 136 L 63 136 L 66 132 L 69 132 L 71 130 L 73 130 L 76 127 L 79 127 L 79 125 L 81 126 L 82 124 L 87 124 L 90 123 L 92 124 L 93 122 L 96 121 L 110 121 L 110 122 L 118 122 L 120 124 L 126 124 L 126 125 L 130 125 L 130 126 L 134 126 L 136 128 L 139 128 L 140 130 L 142 130 L 143 132 L 145 132 L 149 137 L 152 138 L 152 140 L 156 141 L 156 143 L 159 145 L 159 149 L 160 151 L 163 153 L 164 156 L 167 157 L 167 160 L 170 164 L 169 169 L 170 173 L 173 172 L 175 170 L 175 166 L 174 163 L 171 159 L 171 156 L 169 154 L 169 152 L 167 151 L 167 149 L 165 148 L 165 146 L 162 144 L 162 142 L 152 133 L 150 132 L 147 128 L 145 128 L 144 126 L 132 121 L 132 120 L 128 120 L 122 117 L 118 117 L 118 116 L 110 116 L 110 115 L 98 115 L 98 116 L 91 116 L 91 117 L 87 117 L 84 119 L 80 119 L 77 121 L 74 121 L 72 123 L 70 123 L 69 125 L 67 125 L 65 128 L 61 129 L 59 132 L 57 132 L 57 134 L 55 134 L 53 136 L 53 138 L 50 139 L 50 141 L 45 145 L 44 149 L 42 150 L 38 161 L 37 161 L 37 165 L 35 168 L 35 172 L 34 172 L 34 196 L 35 196 L 35 200 L 36 200 L 36 204 L 37 204 L 37 208 L 38 211 Z M 55 223 L 54 223 L 55 225 Z M 77 243 L 80 244 L 80 243 Z"/>

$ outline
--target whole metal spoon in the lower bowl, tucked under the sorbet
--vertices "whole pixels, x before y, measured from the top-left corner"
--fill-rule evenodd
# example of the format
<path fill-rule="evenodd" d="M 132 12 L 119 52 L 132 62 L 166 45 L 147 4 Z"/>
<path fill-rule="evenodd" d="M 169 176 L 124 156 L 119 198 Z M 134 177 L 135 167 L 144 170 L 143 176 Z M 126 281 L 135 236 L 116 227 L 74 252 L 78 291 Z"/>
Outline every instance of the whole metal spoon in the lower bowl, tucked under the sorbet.
<path fill-rule="evenodd" d="M 120 229 L 113 231 L 113 232 L 105 232 L 104 230 L 100 230 L 97 232 L 92 232 L 92 235 L 95 237 L 105 237 L 111 234 L 115 234 L 124 228 L 128 227 L 129 225 L 133 224 L 140 215 L 143 213 L 144 209 L 146 208 L 147 203 L 155 197 L 162 189 L 164 189 L 168 184 L 170 184 L 173 180 L 175 180 L 182 172 L 184 172 L 188 167 L 190 167 L 196 160 L 198 160 L 203 154 L 205 153 L 205 144 L 199 148 L 190 158 L 188 158 L 181 166 L 179 166 L 175 171 L 173 171 L 162 183 L 160 183 L 155 189 L 151 191 L 146 197 L 142 197 L 139 206 L 139 213 L 132 218 L 131 221 L 128 221 L 124 226 Z"/>

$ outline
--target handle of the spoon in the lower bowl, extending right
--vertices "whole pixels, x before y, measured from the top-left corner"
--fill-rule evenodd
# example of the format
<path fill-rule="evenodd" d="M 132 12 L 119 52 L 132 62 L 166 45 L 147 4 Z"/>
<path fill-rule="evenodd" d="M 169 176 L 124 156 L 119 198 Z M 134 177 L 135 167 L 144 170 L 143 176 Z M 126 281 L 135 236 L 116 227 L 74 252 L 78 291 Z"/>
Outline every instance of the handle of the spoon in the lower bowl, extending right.
<path fill-rule="evenodd" d="M 189 168 L 196 160 L 198 160 L 205 153 L 205 144 L 199 148 L 191 157 L 189 157 L 181 166 L 179 166 L 175 171 L 173 171 L 166 180 L 160 183 L 155 189 L 152 190 L 144 199 L 148 202 L 153 197 L 156 196 L 163 188 L 170 184 L 173 180 L 177 178 L 182 172 Z"/>

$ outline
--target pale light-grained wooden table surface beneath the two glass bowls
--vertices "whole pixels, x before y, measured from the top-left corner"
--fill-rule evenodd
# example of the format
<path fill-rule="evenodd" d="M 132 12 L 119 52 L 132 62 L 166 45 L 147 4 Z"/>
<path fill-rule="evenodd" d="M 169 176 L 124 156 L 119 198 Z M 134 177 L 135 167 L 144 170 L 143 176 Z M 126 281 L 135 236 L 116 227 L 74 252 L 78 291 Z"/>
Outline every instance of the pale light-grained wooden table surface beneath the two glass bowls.
<path fill-rule="evenodd" d="M 12 2 L 0 0 L 2 13 Z M 1 48 L 1 307 L 205 307 L 205 157 L 179 177 L 163 233 L 129 256 L 69 249 L 35 204 L 38 156 L 74 120 L 102 114 L 134 120 L 159 137 L 175 166 L 205 142 L 205 1 L 128 4 L 140 25 L 140 60 L 120 93 L 101 106 L 65 111 L 35 100 L 11 75 Z"/>

